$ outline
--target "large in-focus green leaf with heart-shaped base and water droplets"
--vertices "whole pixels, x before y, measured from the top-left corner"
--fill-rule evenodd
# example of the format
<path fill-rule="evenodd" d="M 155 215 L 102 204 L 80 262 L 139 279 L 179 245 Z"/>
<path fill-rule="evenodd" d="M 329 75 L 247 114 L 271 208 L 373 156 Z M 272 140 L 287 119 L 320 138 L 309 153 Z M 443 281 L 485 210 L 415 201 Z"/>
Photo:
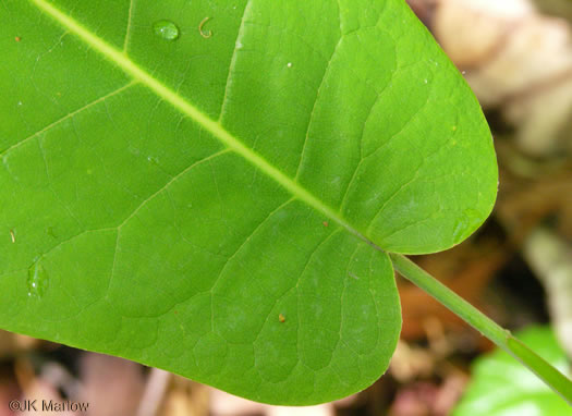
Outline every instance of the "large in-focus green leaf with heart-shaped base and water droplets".
<path fill-rule="evenodd" d="M 399 337 L 379 247 L 491 210 L 478 103 L 403 1 L 3 0 L 0 34 L 10 331 L 331 401 Z"/>

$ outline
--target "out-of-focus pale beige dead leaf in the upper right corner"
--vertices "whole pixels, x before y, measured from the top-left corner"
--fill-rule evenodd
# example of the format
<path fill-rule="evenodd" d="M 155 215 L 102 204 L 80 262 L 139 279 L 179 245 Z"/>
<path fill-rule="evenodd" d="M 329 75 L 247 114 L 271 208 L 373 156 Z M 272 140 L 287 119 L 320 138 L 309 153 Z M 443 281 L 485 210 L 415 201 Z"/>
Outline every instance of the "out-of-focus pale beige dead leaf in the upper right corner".
<path fill-rule="evenodd" d="M 427 1 L 436 1 L 435 36 L 483 106 L 515 126 L 519 147 L 537 157 L 570 150 L 570 25 L 540 15 L 528 0 Z"/>

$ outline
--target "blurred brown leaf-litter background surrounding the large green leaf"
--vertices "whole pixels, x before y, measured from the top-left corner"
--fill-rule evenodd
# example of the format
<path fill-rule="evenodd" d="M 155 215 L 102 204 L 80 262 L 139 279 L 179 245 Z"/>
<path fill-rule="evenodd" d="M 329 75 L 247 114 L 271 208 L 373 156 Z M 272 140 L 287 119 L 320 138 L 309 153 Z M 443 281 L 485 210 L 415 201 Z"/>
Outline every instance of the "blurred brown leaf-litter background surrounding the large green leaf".
<path fill-rule="evenodd" d="M 533 347 L 553 343 L 553 359 L 568 367 L 572 0 L 409 3 L 482 102 L 500 167 L 498 203 L 485 225 L 462 245 L 415 260 L 503 327 L 518 331 L 540 326 Z M 416 287 L 402 279 L 399 285 L 403 333 L 388 374 L 337 403 L 305 408 L 260 405 L 120 358 L 0 331 L 0 416 L 16 414 L 9 409 L 11 400 L 31 397 L 88 402 L 87 414 L 96 416 L 477 415 L 467 406 L 472 389 L 487 377 L 486 358 L 480 357 L 492 345 Z M 497 366 L 492 374 L 502 368 Z M 526 389 L 516 392 L 514 401 L 526 402 L 537 413 L 516 407 L 503 415 L 572 415 L 558 411 L 558 404 L 550 407 L 550 392 L 541 386 Z M 548 402 L 532 400 L 534 389 L 541 391 L 535 396 Z M 492 403 L 478 414 L 497 414 L 494 407 L 500 405 L 510 411 L 510 404 Z M 486 403 L 479 406 L 487 408 Z"/>

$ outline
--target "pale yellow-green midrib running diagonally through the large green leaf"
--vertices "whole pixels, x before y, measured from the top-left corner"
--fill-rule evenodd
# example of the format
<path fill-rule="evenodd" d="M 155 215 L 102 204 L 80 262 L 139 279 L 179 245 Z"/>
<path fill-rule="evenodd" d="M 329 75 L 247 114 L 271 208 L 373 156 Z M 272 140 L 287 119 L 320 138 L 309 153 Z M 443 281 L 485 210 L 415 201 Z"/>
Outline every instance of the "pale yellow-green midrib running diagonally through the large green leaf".
<path fill-rule="evenodd" d="M 357 235 L 360 238 L 366 241 L 368 244 L 373 243 L 368 241 L 362 233 L 351 227 L 336 210 L 324 204 L 312 193 L 304 187 L 300 186 L 289 176 L 284 175 L 280 170 L 270 164 L 265 158 L 256 154 L 248 147 L 246 147 L 241 140 L 230 134 L 221 124 L 211 120 L 208 115 L 198 110 L 195 106 L 180 97 L 171 88 L 163 85 L 160 81 L 153 77 L 149 73 L 137 66 L 129 57 L 101 40 L 99 37 L 94 35 L 81 23 L 74 19 L 65 15 L 62 11 L 56 8 L 53 4 L 46 0 L 31 0 L 41 11 L 51 16 L 56 22 L 65 27 L 72 34 L 85 41 L 89 47 L 101 53 L 107 60 L 121 68 L 127 75 L 134 79 L 141 82 L 147 88 L 153 90 L 158 97 L 168 101 L 181 111 L 183 114 L 190 117 L 196 123 L 200 124 L 203 129 L 211 133 L 223 145 L 233 150 L 235 154 L 243 157 L 245 160 L 251 162 L 254 167 L 263 171 L 265 174 L 270 176 L 272 180 L 278 182 L 282 187 L 290 192 L 294 197 L 303 200 L 314 209 L 322 212 L 329 219 L 338 222 L 340 225 L 345 228 L 352 234 Z"/>

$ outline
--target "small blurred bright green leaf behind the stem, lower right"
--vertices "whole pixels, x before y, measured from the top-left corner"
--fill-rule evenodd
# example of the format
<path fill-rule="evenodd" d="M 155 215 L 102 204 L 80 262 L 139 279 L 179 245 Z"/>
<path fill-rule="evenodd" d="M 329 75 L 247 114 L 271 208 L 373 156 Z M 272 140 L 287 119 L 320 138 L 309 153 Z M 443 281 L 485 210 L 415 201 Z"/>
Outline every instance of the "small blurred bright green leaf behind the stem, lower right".
<path fill-rule="evenodd" d="M 519 339 L 544 359 L 570 375 L 569 363 L 550 328 L 530 328 Z M 473 380 L 453 416 L 560 416 L 570 406 L 533 372 L 503 351 L 479 358 Z"/>

